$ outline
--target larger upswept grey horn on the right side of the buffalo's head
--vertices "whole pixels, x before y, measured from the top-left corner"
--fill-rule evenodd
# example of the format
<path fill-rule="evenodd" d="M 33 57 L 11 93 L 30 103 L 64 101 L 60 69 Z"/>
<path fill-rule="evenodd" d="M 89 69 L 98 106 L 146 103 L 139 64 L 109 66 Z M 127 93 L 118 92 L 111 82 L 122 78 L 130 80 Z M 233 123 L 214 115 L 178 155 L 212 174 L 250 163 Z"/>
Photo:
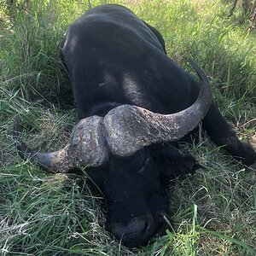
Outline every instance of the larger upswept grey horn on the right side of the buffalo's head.
<path fill-rule="evenodd" d="M 177 113 L 160 114 L 122 105 L 109 111 L 104 117 L 104 126 L 113 154 L 128 156 L 152 143 L 177 141 L 201 122 L 212 103 L 212 92 L 207 75 L 194 61 L 190 64 L 201 79 L 201 91 L 189 108 Z"/>

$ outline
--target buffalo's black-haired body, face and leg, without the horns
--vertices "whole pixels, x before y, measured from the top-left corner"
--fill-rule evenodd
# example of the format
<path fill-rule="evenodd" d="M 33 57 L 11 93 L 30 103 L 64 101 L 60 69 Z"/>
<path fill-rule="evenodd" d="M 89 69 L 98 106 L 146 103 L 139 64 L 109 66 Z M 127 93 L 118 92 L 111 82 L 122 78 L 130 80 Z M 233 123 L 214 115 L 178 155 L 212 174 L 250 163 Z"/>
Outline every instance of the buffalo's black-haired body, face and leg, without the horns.
<path fill-rule="evenodd" d="M 104 5 L 69 26 L 62 55 L 73 85 L 79 119 L 104 116 L 131 104 L 155 113 L 188 108 L 199 84 L 166 56 L 164 39 L 129 9 Z M 212 141 L 246 165 L 256 154 L 241 143 L 215 103 L 203 119 Z M 166 179 L 194 172 L 195 159 L 171 143 L 152 145 L 104 166 L 88 168 L 108 201 L 108 230 L 125 245 L 137 246 L 163 229 L 168 212 Z"/>

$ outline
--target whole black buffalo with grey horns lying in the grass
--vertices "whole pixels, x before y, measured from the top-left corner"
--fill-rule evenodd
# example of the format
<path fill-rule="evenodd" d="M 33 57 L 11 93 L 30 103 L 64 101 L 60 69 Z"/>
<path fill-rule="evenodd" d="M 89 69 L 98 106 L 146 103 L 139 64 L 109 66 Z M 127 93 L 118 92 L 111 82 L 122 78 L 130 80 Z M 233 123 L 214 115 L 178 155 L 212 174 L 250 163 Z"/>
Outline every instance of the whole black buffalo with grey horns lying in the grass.
<path fill-rule="evenodd" d="M 247 166 L 256 159 L 212 101 L 205 73 L 196 82 L 166 55 L 165 42 L 129 9 L 90 9 L 67 30 L 62 56 L 73 84 L 79 124 L 65 148 L 20 154 L 49 172 L 88 166 L 108 203 L 107 227 L 125 245 L 159 233 L 168 212 L 166 180 L 194 172 L 177 148 L 202 120 L 212 141 Z"/>

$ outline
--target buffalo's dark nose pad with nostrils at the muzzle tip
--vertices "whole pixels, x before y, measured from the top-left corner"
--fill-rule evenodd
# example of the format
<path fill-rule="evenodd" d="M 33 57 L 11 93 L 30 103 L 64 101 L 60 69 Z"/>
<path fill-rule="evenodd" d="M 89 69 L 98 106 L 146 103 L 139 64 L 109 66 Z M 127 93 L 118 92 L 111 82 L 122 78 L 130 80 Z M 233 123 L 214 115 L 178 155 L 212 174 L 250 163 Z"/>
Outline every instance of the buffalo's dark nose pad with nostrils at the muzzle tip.
<path fill-rule="evenodd" d="M 109 229 L 117 239 L 125 236 L 141 236 L 147 229 L 147 222 L 143 218 L 132 218 L 128 224 L 111 224 Z"/>

